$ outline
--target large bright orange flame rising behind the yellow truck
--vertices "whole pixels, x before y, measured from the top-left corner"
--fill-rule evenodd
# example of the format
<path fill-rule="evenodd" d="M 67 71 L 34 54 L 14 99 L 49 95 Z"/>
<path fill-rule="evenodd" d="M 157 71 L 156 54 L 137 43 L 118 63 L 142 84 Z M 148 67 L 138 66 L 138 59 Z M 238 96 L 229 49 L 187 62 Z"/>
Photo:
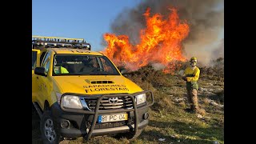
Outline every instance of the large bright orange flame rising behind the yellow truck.
<path fill-rule="evenodd" d="M 146 28 L 140 31 L 140 43 L 131 45 L 126 35 L 104 34 L 107 47 L 103 52 L 117 66 L 138 70 L 149 63 L 161 63 L 165 73 L 174 70 L 174 61 L 185 61 L 182 56 L 182 40 L 190 27 L 181 22 L 176 9 L 164 20 L 161 14 L 150 17 L 150 8 L 144 14 Z"/>

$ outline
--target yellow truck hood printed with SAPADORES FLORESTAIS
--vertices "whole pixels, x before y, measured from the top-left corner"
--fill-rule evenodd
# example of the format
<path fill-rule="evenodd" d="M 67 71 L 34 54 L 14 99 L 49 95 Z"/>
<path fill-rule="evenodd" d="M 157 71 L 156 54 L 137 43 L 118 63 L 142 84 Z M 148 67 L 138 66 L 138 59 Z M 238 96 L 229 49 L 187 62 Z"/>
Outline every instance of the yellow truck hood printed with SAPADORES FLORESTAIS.
<path fill-rule="evenodd" d="M 142 89 L 122 75 L 106 76 L 55 76 L 58 90 L 74 94 L 132 94 Z"/>

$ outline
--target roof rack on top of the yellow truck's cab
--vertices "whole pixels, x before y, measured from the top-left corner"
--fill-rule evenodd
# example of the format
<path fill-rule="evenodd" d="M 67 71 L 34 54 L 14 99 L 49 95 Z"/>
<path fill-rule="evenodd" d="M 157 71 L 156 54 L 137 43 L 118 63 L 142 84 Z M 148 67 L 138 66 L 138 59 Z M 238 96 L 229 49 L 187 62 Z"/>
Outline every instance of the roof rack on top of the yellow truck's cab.
<path fill-rule="evenodd" d="M 84 38 L 60 38 L 32 35 L 32 49 L 42 48 L 72 48 L 90 50 L 90 43 Z"/>

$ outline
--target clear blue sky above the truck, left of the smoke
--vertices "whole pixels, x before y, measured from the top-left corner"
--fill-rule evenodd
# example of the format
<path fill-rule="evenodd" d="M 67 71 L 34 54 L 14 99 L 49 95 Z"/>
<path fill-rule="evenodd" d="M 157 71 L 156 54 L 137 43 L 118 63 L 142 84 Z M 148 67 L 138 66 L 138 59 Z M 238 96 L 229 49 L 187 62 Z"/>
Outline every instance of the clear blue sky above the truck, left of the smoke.
<path fill-rule="evenodd" d="M 125 8 L 140 0 L 32 0 L 32 35 L 85 38 L 92 50 L 103 50 L 102 35 Z"/>

